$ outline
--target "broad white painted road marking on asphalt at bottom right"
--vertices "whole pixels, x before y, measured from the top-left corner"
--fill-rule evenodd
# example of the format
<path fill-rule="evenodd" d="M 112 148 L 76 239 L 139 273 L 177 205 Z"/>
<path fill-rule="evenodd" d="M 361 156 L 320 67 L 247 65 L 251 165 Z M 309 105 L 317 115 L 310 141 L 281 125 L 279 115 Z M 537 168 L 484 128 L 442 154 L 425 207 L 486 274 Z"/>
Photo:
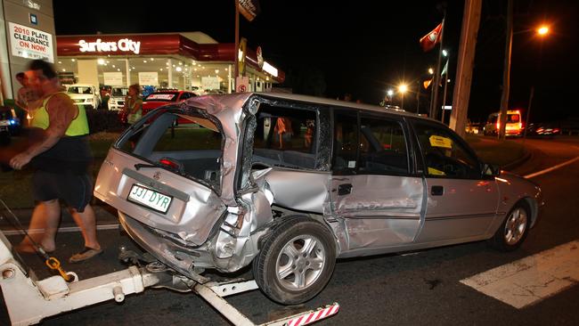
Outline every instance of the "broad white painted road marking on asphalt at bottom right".
<path fill-rule="evenodd" d="M 518 309 L 578 282 L 579 240 L 461 280 L 461 283 Z"/>

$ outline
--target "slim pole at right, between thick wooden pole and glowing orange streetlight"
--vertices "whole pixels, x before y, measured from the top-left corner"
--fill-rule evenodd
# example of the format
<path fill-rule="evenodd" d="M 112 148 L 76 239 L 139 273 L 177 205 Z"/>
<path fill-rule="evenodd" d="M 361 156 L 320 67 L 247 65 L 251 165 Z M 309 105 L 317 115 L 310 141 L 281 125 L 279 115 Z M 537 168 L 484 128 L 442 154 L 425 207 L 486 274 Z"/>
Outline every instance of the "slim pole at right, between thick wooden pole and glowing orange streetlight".
<path fill-rule="evenodd" d="M 510 53 L 513 45 L 513 0 L 507 4 L 507 38 L 505 41 L 504 64 L 502 66 L 501 114 L 499 115 L 499 139 L 505 139 L 507 110 L 509 109 L 510 92 Z"/>

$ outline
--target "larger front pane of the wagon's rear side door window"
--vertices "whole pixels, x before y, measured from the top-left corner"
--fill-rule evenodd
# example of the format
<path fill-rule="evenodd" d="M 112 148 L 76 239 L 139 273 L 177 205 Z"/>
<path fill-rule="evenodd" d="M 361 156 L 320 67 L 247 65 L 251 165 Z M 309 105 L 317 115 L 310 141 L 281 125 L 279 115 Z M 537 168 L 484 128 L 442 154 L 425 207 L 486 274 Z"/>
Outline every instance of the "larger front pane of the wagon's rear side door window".
<path fill-rule="evenodd" d="M 408 175 L 408 152 L 399 122 L 362 115 L 358 173 Z"/>

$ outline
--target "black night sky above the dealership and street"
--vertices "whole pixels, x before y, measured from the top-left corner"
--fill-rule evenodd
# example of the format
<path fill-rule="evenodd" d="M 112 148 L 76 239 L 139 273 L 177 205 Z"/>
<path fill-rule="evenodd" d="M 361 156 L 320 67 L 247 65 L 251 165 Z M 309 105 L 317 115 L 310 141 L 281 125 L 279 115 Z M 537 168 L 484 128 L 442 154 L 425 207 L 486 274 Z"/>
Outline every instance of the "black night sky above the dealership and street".
<path fill-rule="evenodd" d="M 78 4 L 53 2 L 57 35 L 201 31 L 220 43 L 234 41 L 233 0 L 132 5 L 101 0 L 82 9 Z M 438 49 L 423 53 L 418 40 L 443 19 L 444 6 L 444 48 L 451 53 L 449 77 L 454 79 L 462 1 L 260 0 L 260 5 L 252 22 L 240 18 L 241 37 L 252 48 L 260 45 L 265 60 L 286 72 L 286 86 L 299 93 L 313 94 L 315 87 L 326 97 L 350 93 L 378 103 L 387 88 L 405 81 L 414 93 L 406 95 L 404 108 L 415 111 L 416 89 L 436 64 Z M 579 120 L 578 8 L 575 1 L 515 0 L 510 108 L 526 111 L 535 86 L 532 121 Z M 483 1 L 469 103 L 473 121 L 499 110 L 506 11 L 507 1 Z M 543 21 L 551 24 L 549 37 L 525 32 Z M 308 88 L 304 80 L 314 86 Z M 420 92 L 420 112 L 426 112 L 429 89 Z"/>

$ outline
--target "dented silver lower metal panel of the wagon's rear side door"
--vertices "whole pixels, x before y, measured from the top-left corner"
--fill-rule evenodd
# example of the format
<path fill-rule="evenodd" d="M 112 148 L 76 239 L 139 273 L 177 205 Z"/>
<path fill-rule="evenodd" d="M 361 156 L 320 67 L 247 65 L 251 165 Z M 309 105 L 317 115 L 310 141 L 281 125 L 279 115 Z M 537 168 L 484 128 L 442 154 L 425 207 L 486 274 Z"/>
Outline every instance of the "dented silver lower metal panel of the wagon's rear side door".
<path fill-rule="evenodd" d="M 343 184 L 351 185 L 350 193 L 338 193 Z M 331 188 L 333 214 L 347 232 L 340 257 L 408 244 L 418 234 L 424 198 L 420 177 L 334 175 Z"/>

